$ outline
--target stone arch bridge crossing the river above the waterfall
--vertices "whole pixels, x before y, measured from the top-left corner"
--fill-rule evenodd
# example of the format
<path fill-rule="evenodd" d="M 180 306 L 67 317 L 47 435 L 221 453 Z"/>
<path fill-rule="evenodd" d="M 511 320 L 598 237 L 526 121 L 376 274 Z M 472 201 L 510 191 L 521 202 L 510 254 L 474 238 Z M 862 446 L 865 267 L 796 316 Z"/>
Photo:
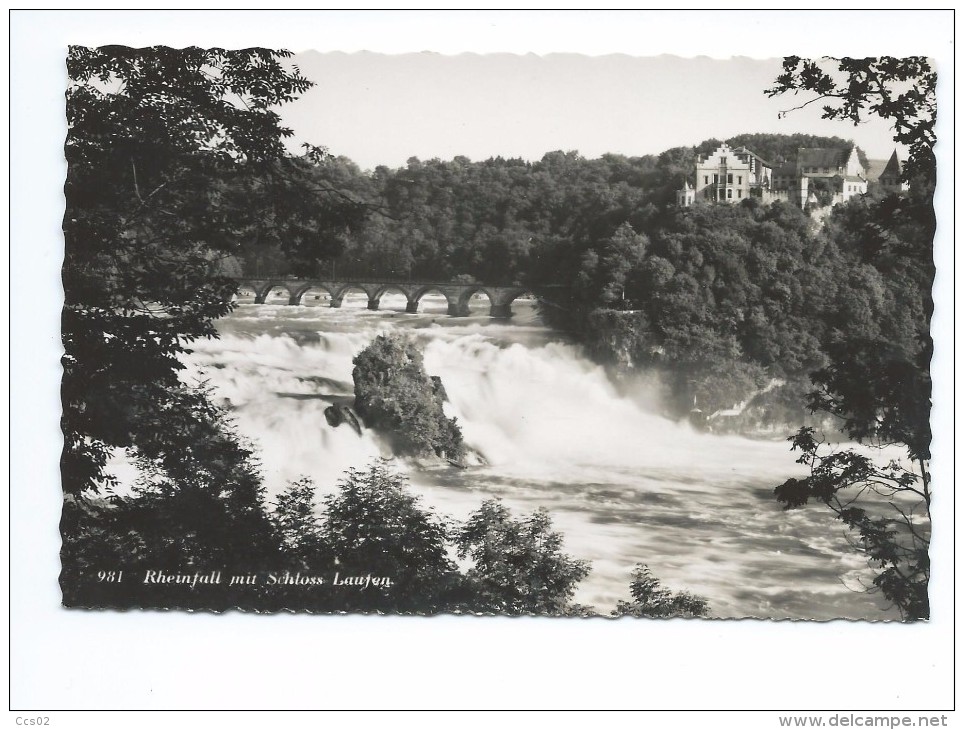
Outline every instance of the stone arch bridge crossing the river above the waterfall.
<path fill-rule="evenodd" d="M 374 279 L 257 279 L 237 278 L 239 288 L 254 291 L 256 304 L 264 304 L 272 289 L 284 289 L 288 292 L 288 304 L 301 304 L 302 297 L 311 289 L 323 289 L 328 292 L 332 307 L 340 307 L 342 300 L 349 291 L 361 291 L 368 297 L 368 308 L 378 309 L 382 296 L 387 292 L 400 292 L 408 300 L 405 311 L 418 312 L 418 304 L 422 297 L 429 292 L 442 294 L 448 302 L 448 313 L 453 317 L 467 317 L 469 315 L 469 299 L 475 294 L 485 294 L 489 298 L 490 317 L 511 317 L 512 302 L 518 297 L 529 294 L 529 290 L 521 286 L 490 286 L 487 284 L 456 284 L 452 282 L 386 282 Z"/>

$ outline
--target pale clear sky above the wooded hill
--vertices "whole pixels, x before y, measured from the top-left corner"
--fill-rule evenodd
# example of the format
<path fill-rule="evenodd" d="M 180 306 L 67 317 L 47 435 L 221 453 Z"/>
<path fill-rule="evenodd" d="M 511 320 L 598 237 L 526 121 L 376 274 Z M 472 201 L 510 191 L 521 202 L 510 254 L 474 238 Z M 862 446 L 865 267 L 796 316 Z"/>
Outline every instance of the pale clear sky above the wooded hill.
<path fill-rule="evenodd" d="M 316 85 L 279 110 L 290 146 L 321 145 L 363 169 L 413 156 L 659 154 L 747 132 L 853 139 L 872 159 L 897 147 L 876 117 L 855 127 L 814 104 L 778 118 L 810 98 L 765 95 L 779 57 L 304 51 L 292 61 Z"/>

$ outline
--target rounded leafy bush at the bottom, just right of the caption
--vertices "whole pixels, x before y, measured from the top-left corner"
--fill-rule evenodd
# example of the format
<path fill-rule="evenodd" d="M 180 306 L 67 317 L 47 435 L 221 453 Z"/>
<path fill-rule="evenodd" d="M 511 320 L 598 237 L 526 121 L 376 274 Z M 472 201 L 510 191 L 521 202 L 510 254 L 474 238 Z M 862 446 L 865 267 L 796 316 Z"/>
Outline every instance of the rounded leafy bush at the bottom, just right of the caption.
<path fill-rule="evenodd" d="M 516 519 L 497 499 L 469 515 L 455 537 L 460 558 L 470 558 L 470 608 L 505 614 L 584 612 L 572 604 L 576 584 L 589 563 L 562 552 L 562 535 L 552 530 L 544 509 Z"/>

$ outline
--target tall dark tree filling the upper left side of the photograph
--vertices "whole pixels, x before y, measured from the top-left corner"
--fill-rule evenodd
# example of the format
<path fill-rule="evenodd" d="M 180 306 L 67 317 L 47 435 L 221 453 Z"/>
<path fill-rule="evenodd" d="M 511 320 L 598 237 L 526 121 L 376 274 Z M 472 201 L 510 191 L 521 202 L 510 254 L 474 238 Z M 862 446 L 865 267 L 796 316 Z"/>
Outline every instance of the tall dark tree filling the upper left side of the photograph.
<path fill-rule="evenodd" d="M 178 356 L 216 335 L 234 282 L 214 271 L 248 223 L 225 180 L 285 155 L 273 107 L 311 85 L 286 51 L 121 46 L 68 52 L 62 321 L 63 486 L 96 492 L 116 448 L 183 413 Z M 161 457 L 172 449 L 156 442 Z"/>

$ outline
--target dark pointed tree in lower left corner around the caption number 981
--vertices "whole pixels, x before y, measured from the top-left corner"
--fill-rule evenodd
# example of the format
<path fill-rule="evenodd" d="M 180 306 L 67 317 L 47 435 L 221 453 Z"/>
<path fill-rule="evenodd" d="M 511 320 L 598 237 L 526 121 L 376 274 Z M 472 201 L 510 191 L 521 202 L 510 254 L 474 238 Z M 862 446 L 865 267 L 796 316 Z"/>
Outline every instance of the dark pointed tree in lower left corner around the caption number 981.
<path fill-rule="evenodd" d="M 166 418 L 138 442 L 140 473 L 129 495 L 67 493 L 60 576 L 67 606 L 178 607 L 226 610 L 262 607 L 258 594 L 224 586 L 97 580 L 105 566 L 130 572 L 274 569 L 282 559 L 264 511 L 264 490 L 252 448 L 203 388 L 172 394 Z M 297 557 L 297 556 L 296 556 Z"/>

